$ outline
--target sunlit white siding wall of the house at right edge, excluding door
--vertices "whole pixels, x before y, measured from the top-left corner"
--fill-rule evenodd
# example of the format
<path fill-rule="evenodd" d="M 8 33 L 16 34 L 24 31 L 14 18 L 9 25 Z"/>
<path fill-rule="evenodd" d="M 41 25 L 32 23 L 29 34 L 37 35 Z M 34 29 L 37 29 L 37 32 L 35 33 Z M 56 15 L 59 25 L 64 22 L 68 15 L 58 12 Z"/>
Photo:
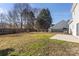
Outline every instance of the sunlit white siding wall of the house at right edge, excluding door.
<path fill-rule="evenodd" d="M 73 22 L 69 25 L 72 29 L 72 35 L 77 36 L 76 33 L 76 24 L 79 23 L 79 4 L 76 5 L 74 11 L 72 12 Z"/>

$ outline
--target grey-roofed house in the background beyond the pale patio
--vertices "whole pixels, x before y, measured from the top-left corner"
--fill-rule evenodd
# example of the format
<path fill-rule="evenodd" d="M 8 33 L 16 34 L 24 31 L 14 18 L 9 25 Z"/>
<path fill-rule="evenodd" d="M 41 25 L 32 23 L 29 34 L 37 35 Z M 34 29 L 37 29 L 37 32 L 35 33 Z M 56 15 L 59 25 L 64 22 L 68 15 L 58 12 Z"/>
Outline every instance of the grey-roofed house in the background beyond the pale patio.
<path fill-rule="evenodd" d="M 54 32 L 68 31 L 68 21 L 62 20 L 58 22 L 54 26 L 51 26 L 49 28 L 49 31 L 54 31 Z"/>

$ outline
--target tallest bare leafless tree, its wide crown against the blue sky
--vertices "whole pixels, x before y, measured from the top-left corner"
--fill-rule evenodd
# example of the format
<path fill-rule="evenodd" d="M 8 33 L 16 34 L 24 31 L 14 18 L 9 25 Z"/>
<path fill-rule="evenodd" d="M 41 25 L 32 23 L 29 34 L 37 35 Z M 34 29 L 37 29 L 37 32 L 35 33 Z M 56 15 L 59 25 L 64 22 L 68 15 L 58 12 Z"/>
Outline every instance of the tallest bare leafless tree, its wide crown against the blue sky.
<path fill-rule="evenodd" d="M 23 10 L 27 9 L 28 11 L 31 10 L 31 7 L 27 3 L 16 3 L 14 4 L 14 10 L 18 15 L 18 21 L 20 21 L 21 29 L 23 28 Z"/>

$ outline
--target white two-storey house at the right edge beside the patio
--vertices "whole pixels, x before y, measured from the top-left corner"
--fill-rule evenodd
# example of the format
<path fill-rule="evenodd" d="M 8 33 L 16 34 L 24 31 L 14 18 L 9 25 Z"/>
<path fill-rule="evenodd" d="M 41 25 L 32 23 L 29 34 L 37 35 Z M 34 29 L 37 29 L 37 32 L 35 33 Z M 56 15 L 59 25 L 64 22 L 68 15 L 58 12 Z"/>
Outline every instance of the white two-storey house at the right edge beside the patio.
<path fill-rule="evenodd" d="M 69 21 L 69 33 L 74 36 L 79 36 L 79 4 L 72 5 L 72 19 Z"/>

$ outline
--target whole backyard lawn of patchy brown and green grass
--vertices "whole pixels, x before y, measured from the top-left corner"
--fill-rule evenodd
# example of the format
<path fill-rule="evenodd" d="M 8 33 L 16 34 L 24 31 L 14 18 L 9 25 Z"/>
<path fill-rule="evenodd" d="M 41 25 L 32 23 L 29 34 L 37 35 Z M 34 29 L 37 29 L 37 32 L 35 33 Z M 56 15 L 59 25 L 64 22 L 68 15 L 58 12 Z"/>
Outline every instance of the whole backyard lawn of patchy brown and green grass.
<path fill-rule="evenodd" d="M 0 36 L 0 55 L 79 55 L 79 43 L 49 39 L 56 33 L 30 32 Z"/>

